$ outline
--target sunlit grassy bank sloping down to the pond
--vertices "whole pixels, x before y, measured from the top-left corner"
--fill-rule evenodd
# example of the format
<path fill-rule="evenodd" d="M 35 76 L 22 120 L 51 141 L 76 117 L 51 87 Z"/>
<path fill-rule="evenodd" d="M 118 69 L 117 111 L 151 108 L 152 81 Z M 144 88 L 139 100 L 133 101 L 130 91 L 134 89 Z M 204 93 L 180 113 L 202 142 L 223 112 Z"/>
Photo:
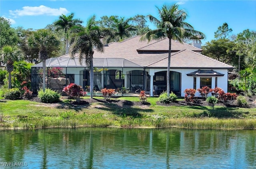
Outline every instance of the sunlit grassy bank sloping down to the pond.
<path fill-rule="evenodd" d="M 86 99 L 87 97 L 85 97 Z M 95 97 L 100 98 L 100 97 Z M 120 100 L 139 101 L 137 97 Z M 148 98 L 150 106 L 118 106 L 94 102 L 73 105 L 70 100 L 43 104 L 29 100 L 2 100 L 0 129 L 54 127 L 153 127 L 202 129 L 255 129 L 256 108 L 216 106 L 159 106 L 158 98 Z"/>

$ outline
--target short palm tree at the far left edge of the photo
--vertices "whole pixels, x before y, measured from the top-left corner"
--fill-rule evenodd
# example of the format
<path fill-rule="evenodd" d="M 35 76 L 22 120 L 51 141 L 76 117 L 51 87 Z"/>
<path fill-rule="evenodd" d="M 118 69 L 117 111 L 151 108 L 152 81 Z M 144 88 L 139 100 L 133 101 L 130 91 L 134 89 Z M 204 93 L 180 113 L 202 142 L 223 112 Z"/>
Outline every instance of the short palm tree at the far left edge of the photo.
<path fill-rule="evenodd" d="M 13 71 L 14 61 L 19 61 L 23 57 L 23 52 L 17 46 L 5 45 L 1 51 L 1 61 L 6 63 L 6 70 L 9 73 L 8 88 L 12 88 L 11 72 Z"/>

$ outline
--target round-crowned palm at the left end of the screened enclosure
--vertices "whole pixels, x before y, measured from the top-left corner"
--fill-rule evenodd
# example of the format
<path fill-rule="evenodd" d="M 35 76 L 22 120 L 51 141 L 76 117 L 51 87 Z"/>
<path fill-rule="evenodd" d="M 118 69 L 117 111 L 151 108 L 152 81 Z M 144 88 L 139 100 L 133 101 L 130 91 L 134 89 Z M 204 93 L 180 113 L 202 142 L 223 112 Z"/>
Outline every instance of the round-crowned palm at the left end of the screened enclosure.
<path fill-rule="evenodd" d="M 39 47 L 39 59 L 43 64 L 43 91 L 45 90 L 45 71 L 46 71 L 46 59 L 54 51 L 58 50 L 60 41 L 47 29 L 38 29 L 33 32 L 32 36 L 28 39 L 28 45 L 30 47 Z"/>

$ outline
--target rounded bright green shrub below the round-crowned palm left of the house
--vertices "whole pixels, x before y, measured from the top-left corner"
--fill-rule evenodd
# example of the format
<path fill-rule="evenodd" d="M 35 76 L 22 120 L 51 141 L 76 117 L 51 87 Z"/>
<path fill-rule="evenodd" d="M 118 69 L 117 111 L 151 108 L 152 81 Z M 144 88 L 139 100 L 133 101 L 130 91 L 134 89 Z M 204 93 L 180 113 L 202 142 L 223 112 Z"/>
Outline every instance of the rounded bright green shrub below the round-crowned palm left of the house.
<path fill-rule="evenodd" d="M 40 89 L 38 91 L 38 97 L 41 102 L 44 103 L 55 103 L 60 101 L 60 94 L 54 90 L 51 90 L 50 88 L 46 88 L 45 91 Z"/>

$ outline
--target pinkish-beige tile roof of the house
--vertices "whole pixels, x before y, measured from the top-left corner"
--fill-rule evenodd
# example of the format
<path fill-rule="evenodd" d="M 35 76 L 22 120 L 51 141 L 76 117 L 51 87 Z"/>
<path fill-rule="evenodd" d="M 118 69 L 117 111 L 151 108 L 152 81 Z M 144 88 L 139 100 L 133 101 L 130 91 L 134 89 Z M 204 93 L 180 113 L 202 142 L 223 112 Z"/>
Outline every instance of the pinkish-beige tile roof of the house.
<path fill-rule="evenodd" d="M 122 42 L 109 43 L 104 47 L 103 53 L 94 51 L 94 60 L 96 58 L 124 58 L 132 62 L 131 65 L 135 64 L 138 67 L 167 67 L 168 39 L 148 42 L 140 41 L 140 37 L 135 36 Z M 182 44 L 172 40 L 172 51 L 175 52 L 172 52 L 171 68 L 233 69 L 230 65 L 197 53 L 202 50 L 186 43 Z M 62 57 L 69 57 L 69 54 L 59 58 Z M 75 57 L 78 57 L 78 54 Z M 122 66 L 117 64 L 119 62 L 117 60 L 113 62 L 116 63 L 116 67 Z"/>

